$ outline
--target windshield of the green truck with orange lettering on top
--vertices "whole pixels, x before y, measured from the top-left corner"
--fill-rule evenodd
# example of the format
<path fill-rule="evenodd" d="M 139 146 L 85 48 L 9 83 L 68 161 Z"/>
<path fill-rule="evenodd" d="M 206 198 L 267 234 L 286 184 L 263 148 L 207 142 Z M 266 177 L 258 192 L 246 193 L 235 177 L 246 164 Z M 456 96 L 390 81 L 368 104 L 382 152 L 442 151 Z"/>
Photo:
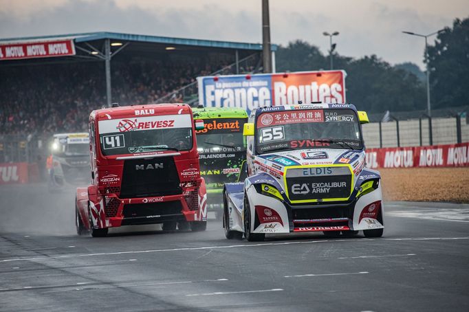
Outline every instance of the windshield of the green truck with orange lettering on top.
<path fill-rule="evenodd" d="M 197 133 L 199 153 L 224 153 L 246 151 L 243 143 L 244 119 L 219 118 L 204 120 L 204 130 Z"/>

